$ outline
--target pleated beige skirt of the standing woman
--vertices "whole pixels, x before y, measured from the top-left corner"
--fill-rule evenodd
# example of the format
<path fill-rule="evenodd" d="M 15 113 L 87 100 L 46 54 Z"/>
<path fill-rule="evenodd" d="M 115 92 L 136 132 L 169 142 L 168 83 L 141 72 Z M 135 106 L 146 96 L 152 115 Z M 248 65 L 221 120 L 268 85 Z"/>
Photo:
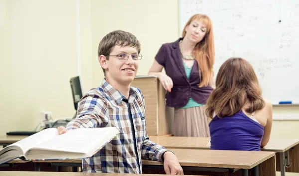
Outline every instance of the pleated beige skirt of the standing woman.
<path fill-rule="evenodd" d="M 174 136 L 210 137 L 205 106 L 175 108 L 173 122 Z"/>

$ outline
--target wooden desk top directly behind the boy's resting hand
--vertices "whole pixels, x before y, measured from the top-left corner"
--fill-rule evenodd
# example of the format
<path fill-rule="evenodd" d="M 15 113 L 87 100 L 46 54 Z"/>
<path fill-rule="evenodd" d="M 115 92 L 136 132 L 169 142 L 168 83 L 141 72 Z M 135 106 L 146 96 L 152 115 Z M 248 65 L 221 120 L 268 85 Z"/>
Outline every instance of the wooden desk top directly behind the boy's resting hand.
<path fill-rule="evenodd" d="M 170 149 L 177 156 L 181 166 L 251 169 L 275 156 L 275 152 Z M 81 163 L 73 160 L 38 160 L 39 163 Z M 142 160 L 143 165 L 163 165 L 163 162 Z"/>

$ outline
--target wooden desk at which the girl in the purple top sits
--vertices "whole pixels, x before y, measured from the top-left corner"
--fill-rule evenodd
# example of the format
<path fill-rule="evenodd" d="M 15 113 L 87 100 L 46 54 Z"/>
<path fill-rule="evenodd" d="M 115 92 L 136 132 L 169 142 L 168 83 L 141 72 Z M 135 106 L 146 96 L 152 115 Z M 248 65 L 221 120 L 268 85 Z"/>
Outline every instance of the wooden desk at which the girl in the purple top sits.
<path fill-rule="evenodd" d="M 210 146 L 207 146 L 210 141 L 208 137 L 149 136 L 149 139 L 165 148 L 210 149 Z M 281 171 L 281 176 L 285 176 L 286 171 L 299 173 L 298 139 L 270 139 L 261 150 L 277 153 L 276 169 Z"/>

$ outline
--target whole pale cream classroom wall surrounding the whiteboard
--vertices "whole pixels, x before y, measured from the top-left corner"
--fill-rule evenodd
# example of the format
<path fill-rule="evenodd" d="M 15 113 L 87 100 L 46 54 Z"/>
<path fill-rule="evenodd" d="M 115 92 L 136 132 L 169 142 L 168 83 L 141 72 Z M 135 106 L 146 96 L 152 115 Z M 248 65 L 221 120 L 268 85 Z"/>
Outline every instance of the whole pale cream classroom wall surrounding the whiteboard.
<path fill-rule="evenodd" d="M 140 40 L 138 75 L 147 74 L 162 43 L 179 37 L 178 0 L 79 0 L 79 14 L 76 33 L 76 0 L 0 0 L 0 135 L 33 130 L 40 111 L 71 117 L 69 79 L 80 74 L 83 93 L 100 85 L 97 46 L 108 32 L 126 30 Z M 299 115 L 299 107 L 274 113 Z M 299 138 L 297 126 L 274 121 L 271 137 Z"/>

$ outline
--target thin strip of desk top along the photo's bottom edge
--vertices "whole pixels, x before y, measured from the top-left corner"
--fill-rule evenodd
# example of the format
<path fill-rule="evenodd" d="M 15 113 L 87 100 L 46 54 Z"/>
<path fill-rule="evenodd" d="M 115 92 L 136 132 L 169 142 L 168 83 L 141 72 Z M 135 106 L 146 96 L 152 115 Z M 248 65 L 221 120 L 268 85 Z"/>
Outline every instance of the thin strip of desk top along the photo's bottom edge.
<path fill-rule="evenodd" d="M 163 174 L 0 171 L 0 176 L 165 176 Z M 167 175 L 174 176 L 174 175 Z M 185 175 L 186 176 L 186 175 Z"/>

